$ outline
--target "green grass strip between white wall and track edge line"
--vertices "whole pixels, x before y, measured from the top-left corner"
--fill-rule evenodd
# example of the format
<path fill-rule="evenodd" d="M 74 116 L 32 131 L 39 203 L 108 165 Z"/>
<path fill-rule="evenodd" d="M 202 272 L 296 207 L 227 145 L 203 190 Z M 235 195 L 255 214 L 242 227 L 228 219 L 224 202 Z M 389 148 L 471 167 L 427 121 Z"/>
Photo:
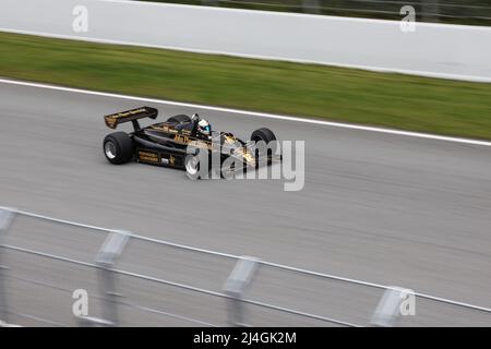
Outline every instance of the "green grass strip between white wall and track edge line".
<path fill-rule="evenodd" d="M 491 84 L 0 33 L 0 75 L 491 140 Z"/>

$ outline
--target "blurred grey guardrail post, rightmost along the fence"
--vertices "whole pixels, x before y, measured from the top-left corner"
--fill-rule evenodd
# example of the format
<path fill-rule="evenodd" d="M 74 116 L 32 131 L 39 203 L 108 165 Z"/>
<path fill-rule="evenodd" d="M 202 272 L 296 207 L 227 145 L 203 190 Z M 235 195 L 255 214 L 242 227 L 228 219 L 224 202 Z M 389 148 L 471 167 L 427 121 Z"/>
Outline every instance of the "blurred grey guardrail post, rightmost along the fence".
<path fill-rule="evenodd" d="M 407 300 L 408 296 L 414 297 L 414 294 L 415 292 L 412 290 L 406 288 L 395 286 L 387 288 L 373 312 L 371 318 L 372 325 L 394 327 L 400 315 L 404 314 L 403 303 Z"/>

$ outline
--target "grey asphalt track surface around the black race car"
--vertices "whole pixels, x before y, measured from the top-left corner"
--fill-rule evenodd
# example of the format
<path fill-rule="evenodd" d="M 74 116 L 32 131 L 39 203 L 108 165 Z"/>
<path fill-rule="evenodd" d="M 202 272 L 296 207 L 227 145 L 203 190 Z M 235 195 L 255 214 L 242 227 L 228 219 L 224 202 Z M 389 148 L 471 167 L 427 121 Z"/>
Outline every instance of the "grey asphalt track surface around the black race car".
<path fill-rule="evenodd" d="M 141 101 L 0 84 L 0 205 L 157 239 L 400 286 L 491 306 L 491 148 L 272 120 L 165 104 L 160 120 L 199 112 L 247 139 L 260 127 L 306 141 L 306 184 L 280 180 L 190 181 L 184 172 L 111 166 L 103 116 Z M 253 108 L 253 106 L 251 106 Z M 122 125 L 121 130 L 130 130 Z M 19 218 L 12 245 L 92 262 L 104 236 Z M 99 291 L 94 270 L 9 251 L 11 312 L 73 325 L 71 291 Z M 119 268 L 220 291 L 233 262 L 132 242 Z M 223 299 L 119 279 L 124 325 L 226 324 Z M 248 298 L 368 325 L 380 290 L 262 268 Z M 93 315 L 100 315 L 97 299 Z M 11 315 L 21 325 L 35 317 Z M 250 305 L 252 325 L 330 325 Z M 486 325 L 491 316 L 431 301 L 402 325 Z"/>

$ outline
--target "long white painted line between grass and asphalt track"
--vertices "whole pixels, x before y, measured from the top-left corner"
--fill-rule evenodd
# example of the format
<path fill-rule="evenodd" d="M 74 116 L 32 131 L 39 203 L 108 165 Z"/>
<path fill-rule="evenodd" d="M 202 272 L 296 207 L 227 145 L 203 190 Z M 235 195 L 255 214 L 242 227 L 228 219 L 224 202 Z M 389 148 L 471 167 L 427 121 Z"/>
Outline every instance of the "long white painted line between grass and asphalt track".
<path fill-rule="evenodd" d="M 488 142 L 488 141 L 478 141 L 478 140 L 460 139 L 460 137 L 453 137 L 453 136 L 444 136 L 444 135 L 438 135 L 438 134 L 383 129 L 383 128 L 376 128 L 376 127 L 366 127 L 366 125 L 358 125 L 358 124 L 350 124 L 350 123 L 343 123 L 343 122 L 314 120 L 314 119 L 308 119 L 308 118 L 280 116 L 280 115 L 274 115 L 274 113 L 267 113 L 267 112 L 256 112 L 256 111 L 239 110 L 239 109 L 232 109 L 232 108 L 213 107 L 213 106 L 205 106 L 205 105 L 199 105 L 199 104 L 180 103 L 180 101 L 147 98 L 147 97 L 119 95 L 119 94 L 113 94 L 113 93 L 63 87 L 63 86 L 56 86 L 56 85 L 47 85 L 47 84 L 41 84 L 41 83 L 23 82 L 23 81 L 8 80 L 8 79 L 0 79 L 0 83 L 17 85 L 17 86 L 28 86 L 28 87 L 52 89 L 52 91 L 69 92 L 69 93 L 75 93 L 75 94 L 94 95 L 94 96 L 101 96 L 101 97 L 109 97 L 109 98 L 139 100 L 139 101 L 163 104 L 163 105 L 169 105 L 169 106 L 200 108 L 200 109 L 207 109 L 207 110 L 213 110 L 213 111 L 221 111 L 221 112 L 229 112 L 229 113 L 235 113 L 235 115 L 258 117 L 258 118 L 303 122 L 303 123 L 319 124 L 319 125 L 333 127 L 333 128 L 343 128 L 343 129 L 350 129 L 350 130 L 369 131 L 369 132 L 378 132 L 378 133 L 385 133 L 385 134 L 394 134 L 394 135 L 403 135 L 403 136 L 410 136 L 410 137 L 418 137 L 418 139 L 445 141 L 445 142 L 453 142 L 453 143 L 460 143 L 460 144 L 468 144 L 468 145 L 481 145 L 481 146 L 490 146 L 491 147 L 491 142 Z"/>

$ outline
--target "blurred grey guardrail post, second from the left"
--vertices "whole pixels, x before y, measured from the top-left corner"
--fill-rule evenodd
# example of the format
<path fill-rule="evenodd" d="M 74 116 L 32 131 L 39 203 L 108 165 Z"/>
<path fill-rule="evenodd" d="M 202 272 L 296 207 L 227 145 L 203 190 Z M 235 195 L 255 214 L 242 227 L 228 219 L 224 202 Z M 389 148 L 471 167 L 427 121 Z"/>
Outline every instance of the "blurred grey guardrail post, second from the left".
<path fill-rule="evenodd" d="M 130 239 L 128 231 L 115 230 L 108 234 L 99 252 L 95 258 L 95 263 L 99 266 L 98 276 L 100 289 L 107 300 L 104 301 L 103 317 L 104 320 L 88 320 L 91 323 L 104 324 L 105 326 L 118 326 L 118 298 L 116 275 L 112 267 L 124 250 Z"/>

